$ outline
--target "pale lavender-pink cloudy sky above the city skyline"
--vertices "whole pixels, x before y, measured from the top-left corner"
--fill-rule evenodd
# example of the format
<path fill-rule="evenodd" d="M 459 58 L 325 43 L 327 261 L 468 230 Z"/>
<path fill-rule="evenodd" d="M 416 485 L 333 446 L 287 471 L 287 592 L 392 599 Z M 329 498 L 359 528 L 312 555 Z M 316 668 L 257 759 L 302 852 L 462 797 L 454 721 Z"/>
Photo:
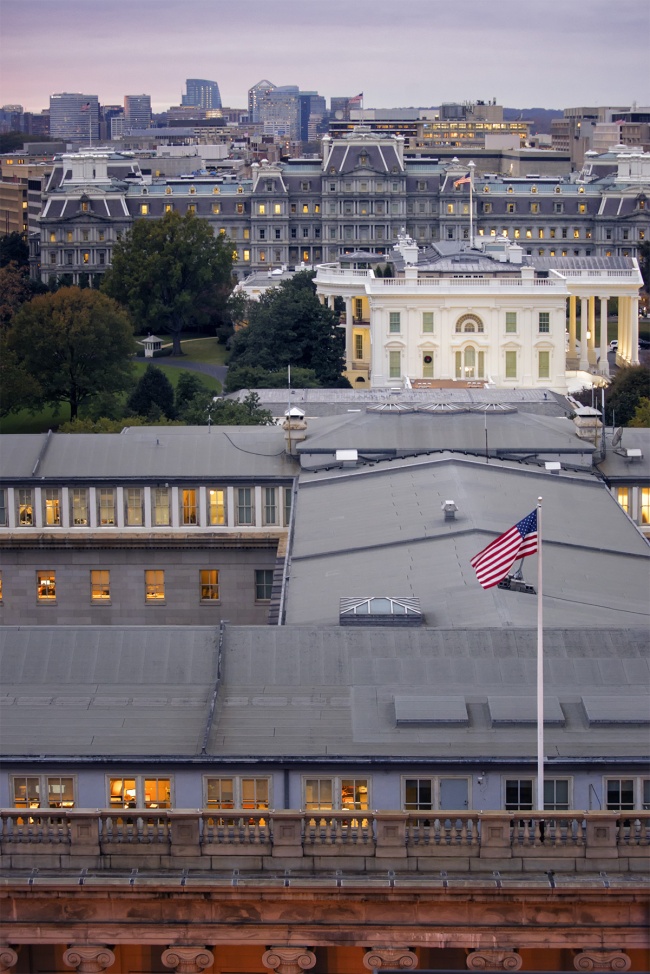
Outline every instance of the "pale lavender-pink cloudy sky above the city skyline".
<path fill-rule="evenodd" d="M 365 108 L 650 104 L 648 0 L 0 0 L 0 105 L 268 79 Z"/>

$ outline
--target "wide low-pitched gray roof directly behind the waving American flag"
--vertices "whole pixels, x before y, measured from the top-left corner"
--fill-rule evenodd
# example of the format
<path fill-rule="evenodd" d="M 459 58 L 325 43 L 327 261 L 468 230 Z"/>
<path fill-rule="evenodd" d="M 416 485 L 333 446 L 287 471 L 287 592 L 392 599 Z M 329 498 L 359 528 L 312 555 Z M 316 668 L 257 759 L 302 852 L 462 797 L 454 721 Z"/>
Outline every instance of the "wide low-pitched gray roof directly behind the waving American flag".
<path fill-rule="evenodd" d="M 647 628 L 650 545 L 605 484 L 586 473 L 448 454 L 301 474 L 286 620 L 332 625 L 341 598 L 381 595 L 419 598 L 429 626 L 534 626 L 536 598 L 484 592 L 470 560 L 538 496 L 553 625 Z M 458 507 L 453 521 L 441 509 L 448 499 Z M 533 584 L 536 562 L 523 563 Z"/>

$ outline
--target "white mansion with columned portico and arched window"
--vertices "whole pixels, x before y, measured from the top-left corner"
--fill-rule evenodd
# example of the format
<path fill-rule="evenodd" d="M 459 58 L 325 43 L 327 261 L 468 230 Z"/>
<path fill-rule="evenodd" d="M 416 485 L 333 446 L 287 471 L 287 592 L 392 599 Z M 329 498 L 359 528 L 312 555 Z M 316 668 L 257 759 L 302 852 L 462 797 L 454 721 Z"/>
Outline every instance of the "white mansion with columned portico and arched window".
<path fill-rule="evenodd" d="M 357 252 L 316 277 L 321 300 L 345 302 L 346 369 L 357 388 L 484 382 L 565 392 L 567 367 L 609 375 L 613 299 L 617 362 L 638 364 L 634 258 L 542 260 L 501 239 L 422 252 L 403 232 L 382 267 Z"/>

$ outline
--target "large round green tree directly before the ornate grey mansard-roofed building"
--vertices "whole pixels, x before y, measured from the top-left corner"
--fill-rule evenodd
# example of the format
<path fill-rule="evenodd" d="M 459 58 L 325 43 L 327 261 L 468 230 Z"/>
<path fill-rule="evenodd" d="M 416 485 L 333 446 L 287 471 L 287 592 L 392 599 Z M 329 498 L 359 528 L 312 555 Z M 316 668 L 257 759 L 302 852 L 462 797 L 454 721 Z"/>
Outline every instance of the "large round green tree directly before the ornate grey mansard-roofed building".
<path fill-rule="evenodd" d="M 182 355 L 189 327 L 217 324 L 232 290 L 232 245 L 215 237 L 207 220 L 167 213 L 136 220 L 113 249 L 102 290 L 128 308 L 136 327 L 172 336 Z"/>

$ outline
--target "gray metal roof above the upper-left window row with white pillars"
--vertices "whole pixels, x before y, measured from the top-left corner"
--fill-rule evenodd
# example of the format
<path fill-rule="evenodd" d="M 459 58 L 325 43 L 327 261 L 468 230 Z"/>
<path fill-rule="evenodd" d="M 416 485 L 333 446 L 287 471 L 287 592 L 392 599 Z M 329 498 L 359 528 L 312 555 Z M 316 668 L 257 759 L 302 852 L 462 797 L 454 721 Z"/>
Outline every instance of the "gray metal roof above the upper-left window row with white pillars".
<path fill-rule="evenodd" d="M 284 434 L 267 426 L 130 427 L 123 433 L 7 434 L 0 437 L 2 477 L 119 480 L 122 477 L 292 477 Z"/>

